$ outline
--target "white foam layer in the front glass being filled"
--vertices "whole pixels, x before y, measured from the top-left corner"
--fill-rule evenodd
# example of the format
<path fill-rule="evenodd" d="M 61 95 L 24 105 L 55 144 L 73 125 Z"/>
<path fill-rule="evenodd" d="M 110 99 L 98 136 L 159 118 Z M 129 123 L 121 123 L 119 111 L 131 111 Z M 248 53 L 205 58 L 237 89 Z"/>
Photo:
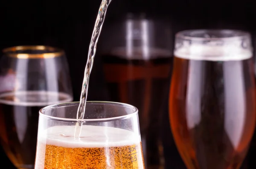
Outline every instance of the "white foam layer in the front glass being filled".
<path fill-rule="evenodd" d="M 140 143 L 140 135 L 115 127 L 83 125 L 81 138 L 74 138 L 75 126 L 55 126 L 38 132 L 43 144 L 67 148 L 127 146 Z"/>

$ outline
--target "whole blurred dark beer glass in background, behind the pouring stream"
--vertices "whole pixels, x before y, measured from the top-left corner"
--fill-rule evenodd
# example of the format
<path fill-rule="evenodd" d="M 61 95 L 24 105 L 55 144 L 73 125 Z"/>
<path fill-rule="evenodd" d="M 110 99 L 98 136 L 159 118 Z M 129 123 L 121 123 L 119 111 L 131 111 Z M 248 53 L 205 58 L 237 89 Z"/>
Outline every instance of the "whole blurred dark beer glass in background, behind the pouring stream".
<path fill-rule="evenodd" d="M 99 42 L 99 50 L 109 99 L 138 107 L 145 167 L 161 168 L 160 109 L 172 68 L 170 26 L 130 13 L 120 22 L 106 22 L 104 31 L 101 39 L 107 42 Z"/>

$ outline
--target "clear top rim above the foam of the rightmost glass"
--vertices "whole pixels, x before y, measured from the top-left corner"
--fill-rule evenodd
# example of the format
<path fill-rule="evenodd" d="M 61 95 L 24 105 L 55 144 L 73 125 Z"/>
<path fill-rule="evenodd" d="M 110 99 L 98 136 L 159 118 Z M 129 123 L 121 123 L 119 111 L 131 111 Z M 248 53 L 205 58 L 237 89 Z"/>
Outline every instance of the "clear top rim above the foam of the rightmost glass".
<path fill-rule="evenodd" d="M 233 36 L 230 37 L 193 37 L 193 36 L 188 36 L 186 34 L 189 33 L 215 33 L 215 34 L 225 34 L 225 33 L 233 33 Z M 184 31 L 179 31 L 175 35 L 175 38 L 179 39 L 184 39 L 184 40 L 195 40 L 195 41 L 207 41 L 207 40 L 212 40 L 212 41 L 233 41 L 233 40 L 240 40 L 243 38 L 250 38 L 251 35 L 247 31 L 241 31 L 241 30 L 236 30 L 236 29 L 190 29 L 190 30 L 184 30 Z"/>

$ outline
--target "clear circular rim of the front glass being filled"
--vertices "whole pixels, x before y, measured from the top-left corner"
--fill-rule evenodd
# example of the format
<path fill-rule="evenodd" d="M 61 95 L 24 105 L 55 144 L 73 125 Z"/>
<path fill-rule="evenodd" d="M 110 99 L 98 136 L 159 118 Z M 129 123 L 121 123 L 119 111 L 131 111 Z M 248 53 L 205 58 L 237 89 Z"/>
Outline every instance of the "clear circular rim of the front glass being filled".
<path fill-rule="evenodd" d="M 115 104 L 115 105 L 122 105 L 122 106 L 125 106 L 125 107 L 128 107 L 128 108 L 131 108 L 131 109 L 134 109 L 132 113 L 128 114 L 128 115 L 120 115 L 120 116 L 116 116 L 116 117 L 111 117 L 111 118 L 93 118 L 93 119 L 77 119 L 77 118 L 60 118 L 60 117 L 54 117 L 54 116 L 51 116 L 51 115 L 46 115 L 44 114 L 43 112 L 45 110 L 51 110 L 51 109 L 54 109 L 54 108 L 58 108 L 58 107 L 65 107 L 67 105 L 71 105 L 71 104 L 79 104 L 80 102 L 79 101 L 72 101 L 72 102 L 65 102 L 65 103 L 58 103 L 58 104 L 52 104 L 52 105 L 49 105 L 49 106 L 46 106 L 46 107 L 43 107 L 39 110 L 39 115 L 42 115 L 43 117 L 45 118 L 48 118 L 48 119 L 52 119 L 52 120 L 55 120 L 55 121 L 76 121 L 76 122 L 86 122 L 86 121 L 113 121 L 113 120 L 120 120 L 120 119 L 124 119 L 124 118 L 129 118 L 129 117 L 132 117 L 134 115 L 137 115 L 138 114 L 138 109 L 137 107 L 131 105 L 131 104 L 126 104 L 126 103 L 120 103 L 120 102 L 113 102 L 113 101 L 86 101 L 86 103 L 90 104 L 90 103 L 106 103 L 106 104 Z M 77 111 L 76 111 L 77 112 Z"/>

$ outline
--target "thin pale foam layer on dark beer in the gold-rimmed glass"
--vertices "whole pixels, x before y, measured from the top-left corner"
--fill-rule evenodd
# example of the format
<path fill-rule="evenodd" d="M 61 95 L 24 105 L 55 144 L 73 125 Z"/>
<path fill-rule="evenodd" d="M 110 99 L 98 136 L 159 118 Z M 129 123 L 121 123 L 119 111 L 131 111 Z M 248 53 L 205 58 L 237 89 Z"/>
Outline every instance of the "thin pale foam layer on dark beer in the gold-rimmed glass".
<path fill-rule="evenodd" d="M 48 106 L 73 101 L 67 93 L 51 91 L 16 91 L 0 95 L 0 103 L 16 106 Z"/>

